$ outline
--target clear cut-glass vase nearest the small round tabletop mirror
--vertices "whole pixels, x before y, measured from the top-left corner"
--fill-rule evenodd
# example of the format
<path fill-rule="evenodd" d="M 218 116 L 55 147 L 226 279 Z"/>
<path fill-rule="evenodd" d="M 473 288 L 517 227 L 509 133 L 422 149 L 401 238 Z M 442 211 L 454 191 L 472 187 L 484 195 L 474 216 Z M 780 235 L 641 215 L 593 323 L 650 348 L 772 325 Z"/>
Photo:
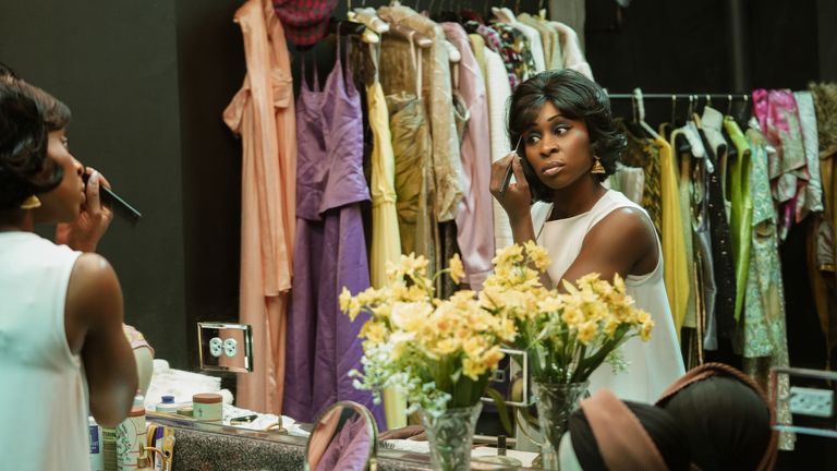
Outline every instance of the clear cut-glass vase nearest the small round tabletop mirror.
<path fill-rule="evenodd" d="M 471 469 L 471 447 L 474 426 L 483 403 L 448 409 L 440 415 L 422 411 L 422 423 L 430 445 L 430 466 L 437 471 L 468 471 Z"/>

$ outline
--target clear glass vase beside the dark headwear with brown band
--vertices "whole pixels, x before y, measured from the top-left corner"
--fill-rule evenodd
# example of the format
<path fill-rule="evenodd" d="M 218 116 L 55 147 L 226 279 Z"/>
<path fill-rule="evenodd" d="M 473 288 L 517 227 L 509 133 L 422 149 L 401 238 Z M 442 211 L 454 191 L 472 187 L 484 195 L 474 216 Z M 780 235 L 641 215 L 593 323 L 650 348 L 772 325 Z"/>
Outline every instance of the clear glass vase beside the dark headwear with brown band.
<path fill-rule="evenodd" d="M 579 408 L 589 386 L 589 381 L 570 384 L 532 383 L 543 437 L 541 467 L 544 470 L 558 470 L 558 445 L 567 431 L 570 414 Z"/>

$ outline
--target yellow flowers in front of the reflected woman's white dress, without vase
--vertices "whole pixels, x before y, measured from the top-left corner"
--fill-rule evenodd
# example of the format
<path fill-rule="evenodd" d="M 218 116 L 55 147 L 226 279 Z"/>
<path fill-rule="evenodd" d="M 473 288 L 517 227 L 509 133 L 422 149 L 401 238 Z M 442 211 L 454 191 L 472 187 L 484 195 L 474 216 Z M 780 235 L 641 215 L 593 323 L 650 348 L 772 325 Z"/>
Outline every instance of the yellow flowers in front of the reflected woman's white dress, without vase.
<path fill-rule="evenodd" d="M 631 337 L 647 340 L 654 322 L 626 294 L 624 282 L 614 283 L 590 274 L 566 292 L 548 290 L 541 274 L 549 266 L 546 250 L 534 242 L 497 252 L 495 273 L 480 293 L 482 306 L 514 322 L 514 347 L 529 353 L 532 378 L 539 383 L 585 382 L 602 363 L 624 369 L 619 346 Z"/>

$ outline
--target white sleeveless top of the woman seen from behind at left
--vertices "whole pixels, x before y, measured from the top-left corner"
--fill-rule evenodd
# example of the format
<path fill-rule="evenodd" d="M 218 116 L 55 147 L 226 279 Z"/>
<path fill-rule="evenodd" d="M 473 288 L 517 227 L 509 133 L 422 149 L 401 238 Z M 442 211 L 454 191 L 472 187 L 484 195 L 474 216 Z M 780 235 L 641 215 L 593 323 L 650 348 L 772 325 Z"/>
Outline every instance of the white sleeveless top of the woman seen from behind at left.
<path fill-rule="evenodd" d="M 90 469 L 87 379 L 64 329 L 78 255 L 35 233 L 0 232 L 0 469 Z"/>

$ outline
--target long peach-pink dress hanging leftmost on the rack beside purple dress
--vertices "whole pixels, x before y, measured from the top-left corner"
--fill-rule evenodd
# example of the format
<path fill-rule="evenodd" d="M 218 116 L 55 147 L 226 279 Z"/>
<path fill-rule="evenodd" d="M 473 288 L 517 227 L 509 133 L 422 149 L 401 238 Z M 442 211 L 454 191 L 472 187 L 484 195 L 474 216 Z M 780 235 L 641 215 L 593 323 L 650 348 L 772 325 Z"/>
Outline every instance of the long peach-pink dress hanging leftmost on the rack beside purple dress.
<path fill-rule="evenodd" d="M 296 128 L 284 32 L 269 0 L 236 12 L 247 75 L 223 111 L 242 137 L 241 323 L 253 326 L 254 370 L 239 376 L 239 407 L 279 414 L 295 230 Z"/>

